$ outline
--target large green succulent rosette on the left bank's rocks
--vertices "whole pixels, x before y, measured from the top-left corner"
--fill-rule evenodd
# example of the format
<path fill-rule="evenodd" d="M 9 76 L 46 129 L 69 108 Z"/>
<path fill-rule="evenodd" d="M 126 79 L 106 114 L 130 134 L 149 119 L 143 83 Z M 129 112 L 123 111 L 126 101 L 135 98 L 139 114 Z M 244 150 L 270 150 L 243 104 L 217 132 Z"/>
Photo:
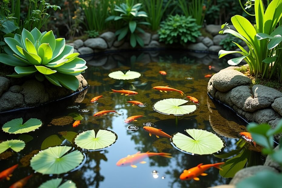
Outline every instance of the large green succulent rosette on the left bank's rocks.
<path fill-rule="evenodd" d="M 73 53 L 73 47 L 65 45 L 65 39 L 55 39 L 52 31 L 41 33 L 23 29 L 22 35 L 6 37 L 7 54 L 0 54 L 0 62 L 15 67 L 10 77 L 21 78 L 35 75 L 39 81 L 45 78 L 55 86 L 75 91 L 79 81 L 75 77 L 87 69 L 86 61 Z"/>

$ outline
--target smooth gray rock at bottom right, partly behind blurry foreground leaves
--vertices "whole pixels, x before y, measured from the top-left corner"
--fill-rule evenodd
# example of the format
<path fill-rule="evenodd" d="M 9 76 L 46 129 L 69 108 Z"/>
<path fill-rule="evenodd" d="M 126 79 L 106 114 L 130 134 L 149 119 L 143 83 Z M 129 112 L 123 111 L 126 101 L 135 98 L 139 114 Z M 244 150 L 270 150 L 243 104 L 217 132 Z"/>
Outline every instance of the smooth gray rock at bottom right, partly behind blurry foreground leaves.
<path fill-rule="evenodd" d="M 239 170 L 233 179 L 230 181 L 229 184 L 236 185 L 240 181 L 244 180 L 247 177 L 254 176 L 256 173 L 261 172 L 261 171 L 272 171 L 272 172 L 277 172 L 274 168 L 270 166 L 263 166 L 263 165 L 258 165 L 258 166 L 250 166 L 247 168 L 244 168 L 242 170 Z"/>

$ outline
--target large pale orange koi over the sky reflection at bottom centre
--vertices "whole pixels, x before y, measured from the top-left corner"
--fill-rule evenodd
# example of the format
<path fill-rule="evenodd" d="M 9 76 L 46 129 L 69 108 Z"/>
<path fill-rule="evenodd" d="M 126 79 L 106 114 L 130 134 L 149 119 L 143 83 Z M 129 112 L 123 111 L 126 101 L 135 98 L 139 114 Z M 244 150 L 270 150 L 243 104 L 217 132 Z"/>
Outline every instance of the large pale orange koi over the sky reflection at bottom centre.
<path fill-rule="evenodd" d="M 147 151 L 146 153 L 141 153 L 139 151 L 136 154 L 128 155 L 127 157 L 119 159 L 119 161 L 116 163 L 116 166 L 131 166 L 133 168 L 136 168 L 137 166 L 134 165 L 134 164 L 136 164 L 136 163 L 144 164 L 146 162 L 143 161 L 143 159 L 145 159 L 146 157 L 151 157 L 151 156 L 155 156 L 155 155 L 159 155 L 159 156 L 162 156 L 162 157 L 168 157 L 168 158 L 172 157 L 172 156 L 170 156 L 171 155 L 170 153 L 153 153 L 153 152 L 149 152 L 149 151 Z"/>

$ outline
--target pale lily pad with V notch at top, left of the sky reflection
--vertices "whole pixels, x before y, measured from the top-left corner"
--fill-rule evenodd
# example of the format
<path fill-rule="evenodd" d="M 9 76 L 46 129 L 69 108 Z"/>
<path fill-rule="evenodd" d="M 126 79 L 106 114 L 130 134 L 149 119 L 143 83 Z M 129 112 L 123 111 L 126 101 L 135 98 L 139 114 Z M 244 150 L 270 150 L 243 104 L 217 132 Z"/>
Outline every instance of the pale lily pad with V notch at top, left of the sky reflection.
<path fill-rule="evenodd" d="M 107 130 L 99 129 L 95 135 L 95 130 L 88 130 L 76 136 L 74 142 L 82 149 L 103 149 L 111 146 L 117 140 L 116 133 Z"/>

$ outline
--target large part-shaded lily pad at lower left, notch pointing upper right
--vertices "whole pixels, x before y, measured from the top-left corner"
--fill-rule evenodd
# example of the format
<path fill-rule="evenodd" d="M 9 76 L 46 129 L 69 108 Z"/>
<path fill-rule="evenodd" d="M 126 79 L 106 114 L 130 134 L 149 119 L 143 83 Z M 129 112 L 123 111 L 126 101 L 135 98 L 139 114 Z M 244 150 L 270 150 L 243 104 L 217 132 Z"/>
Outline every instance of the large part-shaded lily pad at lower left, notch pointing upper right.
<path fill-rule="evenodd" d="M 72 147 L 55 146 L 42 150 L 30 160 L 33 170 L 42 174 L 61 174 L 73 170 L 83 160 L 78 150 L 67 153 Z M 66 154 L 67 153 L 67 154 Z"/>

